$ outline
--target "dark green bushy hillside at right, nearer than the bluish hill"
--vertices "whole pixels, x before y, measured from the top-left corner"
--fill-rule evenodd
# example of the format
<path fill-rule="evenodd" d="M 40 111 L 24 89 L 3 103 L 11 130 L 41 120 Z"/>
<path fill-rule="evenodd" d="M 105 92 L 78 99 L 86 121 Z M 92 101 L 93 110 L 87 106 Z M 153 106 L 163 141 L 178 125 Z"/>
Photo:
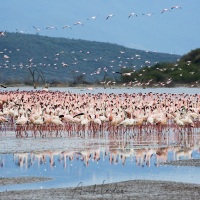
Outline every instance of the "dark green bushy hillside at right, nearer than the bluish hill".
<path fill-rule="evenodd" d="M 198 87 L 200 83 L 200 48 L 192 50 L 174 63 L 158 63 L 144 67 L 131 76 L 124 76 L 132 69 L 123 70 L 122 82 L 132 82 L 140 86 L 175 86 L 185 84 Z"/>

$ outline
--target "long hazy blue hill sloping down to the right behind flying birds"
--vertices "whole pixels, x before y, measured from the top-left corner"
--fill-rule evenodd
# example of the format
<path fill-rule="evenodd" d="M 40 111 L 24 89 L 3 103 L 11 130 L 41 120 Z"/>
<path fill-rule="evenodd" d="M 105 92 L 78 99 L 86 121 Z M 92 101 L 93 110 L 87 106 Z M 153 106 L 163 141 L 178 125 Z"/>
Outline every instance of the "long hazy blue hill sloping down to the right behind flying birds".
<path fill-rule="evenodd" d="M 118 81 L 115 72 L 139 70 L 179 55 L 147 52 L 95 41 L 6 33 L 0 36 L 0 82 L 97 83 Z M 32 80 L 34 78 L 34 80 Z"/>

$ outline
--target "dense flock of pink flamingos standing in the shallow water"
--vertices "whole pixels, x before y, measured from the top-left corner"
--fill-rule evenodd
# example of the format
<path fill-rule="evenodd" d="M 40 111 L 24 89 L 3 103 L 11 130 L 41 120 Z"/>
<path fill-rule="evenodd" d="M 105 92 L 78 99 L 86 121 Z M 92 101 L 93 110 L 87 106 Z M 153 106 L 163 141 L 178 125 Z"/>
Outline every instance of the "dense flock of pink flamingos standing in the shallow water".
<path fill-rule="evenodd" d="M 0 96 L 0 128 L 12 127 L 16 137 L 195 130 L 200 119 L 199 94 L 17 90 Z"/>

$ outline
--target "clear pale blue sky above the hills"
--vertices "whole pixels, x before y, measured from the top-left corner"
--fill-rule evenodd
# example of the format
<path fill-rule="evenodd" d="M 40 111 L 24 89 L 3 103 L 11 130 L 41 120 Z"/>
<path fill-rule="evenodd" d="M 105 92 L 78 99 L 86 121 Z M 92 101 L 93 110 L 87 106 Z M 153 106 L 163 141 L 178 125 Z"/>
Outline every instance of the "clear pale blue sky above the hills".
<path fill-rule="evenodd" d="M 0 8 L 0 31 L 178 55 L 200 47 L 200 0 L 1 0 Z"/>

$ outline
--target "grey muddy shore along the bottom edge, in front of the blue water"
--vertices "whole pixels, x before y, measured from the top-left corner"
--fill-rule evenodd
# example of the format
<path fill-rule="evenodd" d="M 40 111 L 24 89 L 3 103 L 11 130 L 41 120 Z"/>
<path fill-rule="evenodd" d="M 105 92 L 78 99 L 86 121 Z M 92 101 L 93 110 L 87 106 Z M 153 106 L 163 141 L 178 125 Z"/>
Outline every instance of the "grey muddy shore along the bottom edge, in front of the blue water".
<path fill-rule="evenodd" d="M 130 180 L 111 184 L 73 188 L 20 190 L 0 192 L 9 199 L 199 199 L 200 184 L 170 181 Z"/>

